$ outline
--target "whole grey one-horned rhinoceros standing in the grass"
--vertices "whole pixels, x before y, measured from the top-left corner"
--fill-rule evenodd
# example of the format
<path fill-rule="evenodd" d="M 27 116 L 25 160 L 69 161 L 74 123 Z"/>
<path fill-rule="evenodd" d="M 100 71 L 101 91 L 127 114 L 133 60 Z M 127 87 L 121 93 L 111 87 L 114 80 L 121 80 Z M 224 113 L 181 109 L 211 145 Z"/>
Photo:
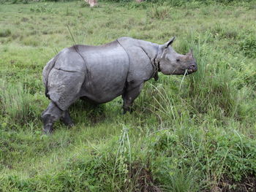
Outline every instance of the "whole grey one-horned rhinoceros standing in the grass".
<path fill-rule="evenodd" d="M 43 131 L 53 131 L 53 123 L 61 119 L 72 126 L 67 111 L 77 99 L 89 99 L 98 104 L 122 96 L 124 113 L 138 97 L 143 83 L 158 72 L 191 74 L 197 71 L 192 51 L 186 55 L 170 46 L 140 39 L 121 37 L 101 46 L 74 45 L 52 58 L 43 69 L 45 95 L 50 99 L 42 113 Z"/>

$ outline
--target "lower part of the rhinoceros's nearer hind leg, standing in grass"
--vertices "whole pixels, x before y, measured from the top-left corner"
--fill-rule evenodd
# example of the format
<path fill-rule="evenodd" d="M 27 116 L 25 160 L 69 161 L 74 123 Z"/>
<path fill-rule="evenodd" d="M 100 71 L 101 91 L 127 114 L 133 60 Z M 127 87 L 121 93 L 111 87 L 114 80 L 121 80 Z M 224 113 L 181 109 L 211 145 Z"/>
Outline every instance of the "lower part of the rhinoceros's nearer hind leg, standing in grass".
<path fill-rule="evenodd" d="M 53 102 L 50 102 L 47 109 L 42 112 L 42 123 L 43 123 L 43 131 L 45 134 L 51 134 L 53 132 L 53 124 L 59 118 L 64 117 L 65 112 L 59 107 L 56 106 Z"/>

